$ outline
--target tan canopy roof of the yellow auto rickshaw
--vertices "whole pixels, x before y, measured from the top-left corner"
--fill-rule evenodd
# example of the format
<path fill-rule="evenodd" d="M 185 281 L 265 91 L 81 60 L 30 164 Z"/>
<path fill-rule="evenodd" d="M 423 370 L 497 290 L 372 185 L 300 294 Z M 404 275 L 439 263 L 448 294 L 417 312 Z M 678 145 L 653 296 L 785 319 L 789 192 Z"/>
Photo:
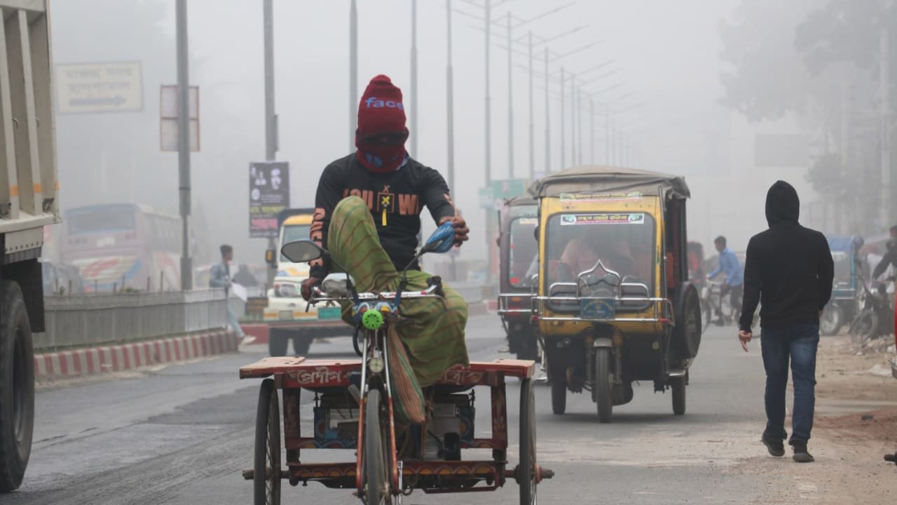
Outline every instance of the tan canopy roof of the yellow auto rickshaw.
<path fill-rule="evenodd" d="M 529 194 L 534 198 L 596 191 L 640 191 L 657 195 L 659 190 L 667 190 L 682 199 L 691 197 L 688 184 L 678 175 L 600 165 L 580 165 L 550 173 L 533 182 Z"/>

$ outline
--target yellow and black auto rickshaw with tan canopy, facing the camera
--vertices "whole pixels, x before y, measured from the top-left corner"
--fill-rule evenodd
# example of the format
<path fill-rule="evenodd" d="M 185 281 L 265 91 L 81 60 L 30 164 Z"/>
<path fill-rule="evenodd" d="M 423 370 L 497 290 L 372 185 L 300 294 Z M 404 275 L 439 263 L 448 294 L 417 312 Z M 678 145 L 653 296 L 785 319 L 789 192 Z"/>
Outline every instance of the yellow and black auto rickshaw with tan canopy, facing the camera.
<path fill-rule="evenodd" d="M 698 290 L 688 279 L 684 179 L 580 166 L 536 181 L 538 296 L 552 408 L 588 391 L 598 420 L 629 403 L 632 382 L 672 391 L 685 412 L 688 369 L 701 343 Z"/>

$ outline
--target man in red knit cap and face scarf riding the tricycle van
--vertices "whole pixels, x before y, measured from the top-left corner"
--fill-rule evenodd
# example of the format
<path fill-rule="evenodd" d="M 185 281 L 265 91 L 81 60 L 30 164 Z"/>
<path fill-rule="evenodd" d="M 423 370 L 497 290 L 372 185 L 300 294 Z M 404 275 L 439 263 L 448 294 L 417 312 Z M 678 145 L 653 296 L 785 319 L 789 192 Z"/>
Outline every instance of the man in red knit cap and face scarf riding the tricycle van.
<path fill-rule="evenodd" d="M 467 240 L 469 230 L 448 185 L 439 172 L 408 155 L 407 138 L 402 91 L 388 76 L 377 75 L 359 103 L 357 151 L 328 164 L 318 182 L 310 238 L 329 256 L 312 262 L 309 279 L 302 283 L 305 299 L 336 264 L 348 270 L 359 291 L 400 288 L 401 272 L 414 260 L 424 207 L 438 225 L 455 226 L 458 246 Z M 405 289 L 426 288 L 429 278 L 414 261 Z M 403 302 L 404 321 L 396 328 L 422 386 L 449 367 L 468 363 L 466 301 L 448 286 L 444 292 L 440 298 Z"/>

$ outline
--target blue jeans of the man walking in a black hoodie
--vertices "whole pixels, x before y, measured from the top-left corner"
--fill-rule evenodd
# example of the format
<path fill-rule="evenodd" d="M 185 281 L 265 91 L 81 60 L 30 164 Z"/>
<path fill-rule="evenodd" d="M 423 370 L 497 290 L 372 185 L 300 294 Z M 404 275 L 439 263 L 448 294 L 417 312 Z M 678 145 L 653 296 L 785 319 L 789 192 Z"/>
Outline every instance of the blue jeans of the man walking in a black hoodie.
<path fill-rule="evenodd" d="M 819 324 L 763 328 L 760 344 L 763 368 L 766 368 L 766 430 L 763 436 L 768 439 L 788 438 L 785 431 L 785 386 L 788 385 L 790 358 L 794 409 L 791 412 L 789 443 L 806 443 L 810 439 L 810 430 L 813 430 Z"/>

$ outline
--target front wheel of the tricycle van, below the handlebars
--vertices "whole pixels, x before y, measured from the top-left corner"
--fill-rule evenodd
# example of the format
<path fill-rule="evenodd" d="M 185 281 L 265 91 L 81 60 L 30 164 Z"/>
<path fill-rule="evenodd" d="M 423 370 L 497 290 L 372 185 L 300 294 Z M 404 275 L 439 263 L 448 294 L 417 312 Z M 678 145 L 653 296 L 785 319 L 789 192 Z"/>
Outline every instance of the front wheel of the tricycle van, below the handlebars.
<path fill-rule="evenodd" d="M 380 423 L 380 391 L 370 389 L 364 404 L 364 503 L 388 503 L 388 451 Z"/>

